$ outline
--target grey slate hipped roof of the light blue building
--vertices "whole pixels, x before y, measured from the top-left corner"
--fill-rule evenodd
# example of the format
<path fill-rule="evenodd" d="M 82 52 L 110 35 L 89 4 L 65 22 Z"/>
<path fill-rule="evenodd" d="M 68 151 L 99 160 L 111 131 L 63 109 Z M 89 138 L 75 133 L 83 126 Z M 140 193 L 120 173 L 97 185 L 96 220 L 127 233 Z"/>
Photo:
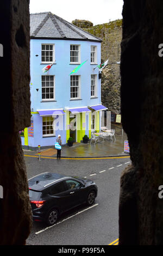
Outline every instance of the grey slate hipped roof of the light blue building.
<path fill-rule="evenodd" d="M 30 38 L 102 42 L 100 38 L 51 12 L 30 14 Z"/>

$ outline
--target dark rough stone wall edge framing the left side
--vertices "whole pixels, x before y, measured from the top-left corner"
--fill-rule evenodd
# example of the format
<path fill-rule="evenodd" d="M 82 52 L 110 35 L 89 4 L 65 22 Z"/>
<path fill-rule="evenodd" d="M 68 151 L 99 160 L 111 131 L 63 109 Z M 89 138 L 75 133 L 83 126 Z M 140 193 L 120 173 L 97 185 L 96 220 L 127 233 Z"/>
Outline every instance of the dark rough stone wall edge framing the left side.
<path fill-rule="evenodd" d="M 1 3 L 0 27 L 3 57 L 0 68 L 0 245 L 25 245 L 32 226 L 26 165 L 19 131 L 30 126 L 29 0 Z"/>

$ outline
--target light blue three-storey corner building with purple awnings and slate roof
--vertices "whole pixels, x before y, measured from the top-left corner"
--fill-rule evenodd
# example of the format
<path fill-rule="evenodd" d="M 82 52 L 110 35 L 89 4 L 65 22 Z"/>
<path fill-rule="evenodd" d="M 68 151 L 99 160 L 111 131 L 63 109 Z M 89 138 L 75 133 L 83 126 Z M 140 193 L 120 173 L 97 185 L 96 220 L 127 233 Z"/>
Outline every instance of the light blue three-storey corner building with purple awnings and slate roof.
<path fill-rule="evenodd" d="M 31 126 L 21 133 L 26 149 L 81 142 L 99 131 L 101 39 L 52 13 L 30 14 Z M 85 60 L 77 73 L 70 73 Z M 43 73 L 45 66 L 52 64 Z M 96 69 L 94 69 L 96 68 Z"/>

